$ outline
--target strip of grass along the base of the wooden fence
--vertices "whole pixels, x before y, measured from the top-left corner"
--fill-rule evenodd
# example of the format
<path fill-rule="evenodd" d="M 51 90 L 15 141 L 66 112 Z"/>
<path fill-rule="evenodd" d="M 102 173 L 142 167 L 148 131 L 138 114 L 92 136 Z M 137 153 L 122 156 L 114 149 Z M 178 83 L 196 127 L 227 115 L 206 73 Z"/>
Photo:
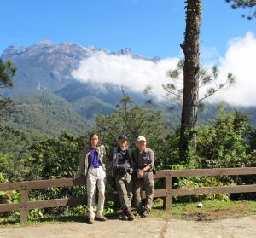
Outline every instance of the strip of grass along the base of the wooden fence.
<path fill-rule="evenodd" d="M 170 211 L 163 210 L 163 201 L 161 199 L 154 200 L 154 206 L 149 218 L 182 218 L 189 220 L 212 220 L 218 218 L 236 218 L 256 214 L 256 201 L 222 201 L 222 200 L 205 200 L 201 202 L 202 208 L 197 208 L 197 202 L 173 204 Z M 109 219 L 117 219 L 118 212 L 108 214 Z M 21 226 L 21 225 L 37 225 L 44 223 L 66 223 L 66 222 L 85 222 L 86 217 L 83 216 L 62 216 L 30 219 L 25 224 L 20 224 L 19 219 L 9 217 L 0 217 L 0 225 L 4 226 Z"/>

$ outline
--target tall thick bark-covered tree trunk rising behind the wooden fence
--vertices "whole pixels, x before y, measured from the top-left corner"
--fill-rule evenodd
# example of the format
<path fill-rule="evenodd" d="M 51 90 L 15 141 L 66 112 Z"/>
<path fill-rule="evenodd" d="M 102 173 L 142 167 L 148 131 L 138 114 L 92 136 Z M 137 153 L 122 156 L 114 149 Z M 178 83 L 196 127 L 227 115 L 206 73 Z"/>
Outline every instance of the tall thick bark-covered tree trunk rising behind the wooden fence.
<path fill-rule="evenodd" d="M 186 132 L 197 125 L 199 102 L 199 36 L 201 25 L 201 0 L 187 0 L 186 30 L 181 44 L 185 61 L 183 67 L 183 108 L 180 129 L 180 158 L 185 159 L 188 148 Z"/>

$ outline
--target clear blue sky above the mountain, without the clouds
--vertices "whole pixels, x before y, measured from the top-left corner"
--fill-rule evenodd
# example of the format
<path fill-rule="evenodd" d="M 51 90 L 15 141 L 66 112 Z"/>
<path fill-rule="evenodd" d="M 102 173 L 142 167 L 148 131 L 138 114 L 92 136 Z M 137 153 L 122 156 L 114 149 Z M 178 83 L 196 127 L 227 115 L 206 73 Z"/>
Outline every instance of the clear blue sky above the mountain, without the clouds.
<path fill-rule="evenodd" d="M 9 45 L 29 46 L 49 39 L 110 51 L 129 47 L 137 55 L 181 55 L 183 0 L 13 0 L 1 1 L 0 53 Z M 244 20 L 224 0 L 204 0 L 201 49 L 224 55 L 232 38 L 256 33 L 256 20 Z M 248 10 L 246 10 L 248 12 Z"/>

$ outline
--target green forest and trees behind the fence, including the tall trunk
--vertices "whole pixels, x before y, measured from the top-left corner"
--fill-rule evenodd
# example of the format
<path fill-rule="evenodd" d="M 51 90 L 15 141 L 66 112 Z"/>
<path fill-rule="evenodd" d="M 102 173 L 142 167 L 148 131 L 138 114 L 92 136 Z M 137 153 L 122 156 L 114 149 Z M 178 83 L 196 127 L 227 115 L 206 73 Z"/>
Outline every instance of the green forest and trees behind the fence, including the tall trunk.
<path fill-rule="evenodd" d="M 223 102 L 215 105 L 216 113 L 211 119 L 205 119 L 204 123 L 198 119 L 202 105 L 198 98 L 200 80 L 207 84 L 212 79 L 200 71 L 201 22 L 197 19 L 201 16 L 201 1 L 186 3 L 186 30 L 181 44 L 184 60 L 179 63 L 178 69 L 184 73 L 183 91 L 177 96 L 181 102 L 180 120 L 172 116 L 172 111 L 166 113 L 165 109 L 144 107 L 133 102 L 124 90 L 116 107 L 93 96 L 73 102 L 73 107 L 80 113 L 51 92 L 47 96 L 38 93 L 22 96 L 19 103 L 0 95 L 0 183 L 76 177 L 84 144 L 89 143 L 91 131 L 97 131 L 100 135 L 100 142 L 107 148 L 108 160 L 113 147 L 118 143 L 119 135 L 128 136 L 131 148 L 136 148 L 137 136 L 146 136 L 148 148 L 154 150 L 157 171 L 255 167 L 256 128 L 250 124 L 247 113 L 228 110 Z M 15 73 L 16 69 L 11 61 L 0 60 L 0 87 L 11 90 Z M 213 78 L 217 73 L 218 69 L 213 67 Z M 175 78 L 178 72 L 176 70 L 170 74 L 171 78 Z M 229 73 L 227 79 L 229 84 L 233 83 L 232 74 Z M 212 96 L 222 87 L 224 85 L 219 85 L 217 89 L 210 88 L 205 97 Z M 175 87 L 170 84 L 166 86 L 166 90 L 173 93 Z M 95 109 L 92 102 L 102 107 L 92 110 Z M 87 119 L 81 116 L 84 112 L 87 112 Z M 183 177 L 172 180 L 173 188 L 253 183 L 256 183 L 255 175 Z M 156 188 L 160 185 L 155 184 Z M 113 184 L 109 183 L 107 192 L 113 191 Z M 72 189 L 35 189 L 30 193 L 30 200 L 83 196 L 85 192 L 82 186 Z M 212 194 L 174 198 L 173 202 L 255 198 L 255 193 Z M 19 191 L 0 191 L 0 204 L 19 201 Z M 58 207 L 32 210 L 29 211 L 29 216 L 44 218 L 61 214 L 81 215 L 85 211 L 86 206 Z M 113 203 L 106 206 L 106 211 L 113 212 Z M 19 216 L 19 212 L 0 213 L 0 218 L 17 219 Z"/>

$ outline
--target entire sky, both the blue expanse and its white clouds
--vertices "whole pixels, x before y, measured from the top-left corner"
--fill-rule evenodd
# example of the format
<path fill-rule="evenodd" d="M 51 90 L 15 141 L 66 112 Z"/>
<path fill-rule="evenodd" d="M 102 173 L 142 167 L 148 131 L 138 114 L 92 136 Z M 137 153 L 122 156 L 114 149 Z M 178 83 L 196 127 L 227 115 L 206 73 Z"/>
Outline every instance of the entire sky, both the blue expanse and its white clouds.
<path fill-rule="evenodd" d="M 232 89 L 218 92 L 210 100 L 256 106 L 256 19 L 241 18 L 250 10 L 231 9 L 225 0 L 202 3 L 201 59 L 208 73 L 212 64 L 218 65 L 219 83 L 224 83 L 230 72 L 236 78 Z M 1 1 L 0 54 L 9 45 L 26 47 L 42 40 L 53 44 L 71 41 L 108 51 L 128 47 L 136 55 L 159 56 L 161 60 L 154 63 L 100 51 L 80 61 L 73 77 L 81 82 L 125 85 L 140 92 L 150 85 L 164 95 L 162 84 L 171 80 L 166 72 L 183 57 L 179 44 L 185 28 L 184 6 L 183 0 Z M 205 91 L 201 89 L 200 95 Z"/>

